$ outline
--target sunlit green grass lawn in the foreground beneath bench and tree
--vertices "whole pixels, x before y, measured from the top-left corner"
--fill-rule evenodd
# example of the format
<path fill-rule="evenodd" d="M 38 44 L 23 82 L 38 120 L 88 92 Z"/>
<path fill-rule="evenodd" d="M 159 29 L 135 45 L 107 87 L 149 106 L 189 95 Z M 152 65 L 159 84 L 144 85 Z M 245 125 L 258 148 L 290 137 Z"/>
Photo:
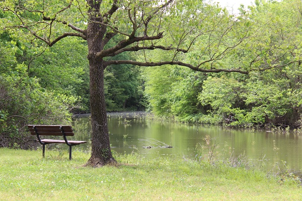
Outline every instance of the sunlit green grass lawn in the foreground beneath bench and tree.
<path fill-rule="evenodd" d="M 116 156 L 117 167 L 83 167 L 89 154 L 0 149 L 0 200 L 301 200 L 292 178 L 186 161 Z"/>

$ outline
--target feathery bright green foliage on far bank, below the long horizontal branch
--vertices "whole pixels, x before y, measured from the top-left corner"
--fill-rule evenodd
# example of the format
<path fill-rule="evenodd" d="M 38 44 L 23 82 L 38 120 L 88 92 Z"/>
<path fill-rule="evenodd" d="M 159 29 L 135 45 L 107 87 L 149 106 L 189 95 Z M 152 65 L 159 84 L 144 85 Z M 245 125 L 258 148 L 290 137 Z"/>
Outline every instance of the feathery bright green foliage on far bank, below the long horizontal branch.
<path fill-rule="evenodd" d="M 193 121 L 200 107 L 197 95 L 204 75 L 184 67 L 148 67 L 143 70 L 145 94 L 156 115 Z"/>

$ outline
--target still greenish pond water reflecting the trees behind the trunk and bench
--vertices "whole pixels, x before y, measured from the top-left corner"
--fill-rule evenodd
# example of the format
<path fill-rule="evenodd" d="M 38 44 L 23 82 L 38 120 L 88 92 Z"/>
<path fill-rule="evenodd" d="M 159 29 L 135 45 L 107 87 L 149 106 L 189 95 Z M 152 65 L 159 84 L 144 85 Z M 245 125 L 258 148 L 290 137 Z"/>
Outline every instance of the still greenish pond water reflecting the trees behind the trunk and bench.
<path fill-rule="evenodd" d="M 274 133 L 271 131 L 236 130 L 214 126 L 179 124 L 148 120 L 142 114 L 109 114 L 108 127 L 110 143 L 117 153 L 139 153 L 145 157 L 179 155 L 184 158 L 207 157 L 213 150 L 215 159 L 237 159 L 249 161 L 266 169 L 279 164 L 299 171 L 302 169 L 302 135 Z M 75 120 L 75 138 L 90 143 L 91 127 L 89 117 Z M 209 136 L 207 145 L 204 140 Z M 167 148 L 172 147 L 172 148 Z"/>

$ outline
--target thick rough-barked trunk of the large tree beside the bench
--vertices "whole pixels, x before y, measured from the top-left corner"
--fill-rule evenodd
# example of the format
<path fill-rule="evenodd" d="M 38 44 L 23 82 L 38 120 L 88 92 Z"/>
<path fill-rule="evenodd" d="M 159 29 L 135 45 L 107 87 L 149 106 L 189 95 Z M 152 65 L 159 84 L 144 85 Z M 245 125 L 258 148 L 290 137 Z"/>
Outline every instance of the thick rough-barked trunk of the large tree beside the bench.
<path fill-rule="evenodd" d="M 103 34 L 99 24 L 89 23 L 87 28 L 88 60 L 90 67 L 90 107 L 92 125 L 91 157 L 86 165 L 99 167 L 116 163 L 110 149 L 107 114 L 104 93 L 104 62 L 96 59 L 96 53 L 102 50 Z"/>

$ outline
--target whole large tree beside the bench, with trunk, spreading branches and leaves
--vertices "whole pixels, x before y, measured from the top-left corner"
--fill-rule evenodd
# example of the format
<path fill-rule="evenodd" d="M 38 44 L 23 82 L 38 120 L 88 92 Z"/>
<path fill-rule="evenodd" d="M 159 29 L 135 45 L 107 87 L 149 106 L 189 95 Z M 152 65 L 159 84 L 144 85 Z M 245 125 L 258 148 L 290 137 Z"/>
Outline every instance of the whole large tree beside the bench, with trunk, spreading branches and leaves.
<path fill-rule="evenodd" d="M 10 0 L 0 4 L 6 17 L 1 25 L 37 45 L 36 39 L 47 46 L 66 37 L 87 40 L 92 121 L 92 153 L 87 164 L 95 167 L 115 162 L 110 150 L 104 95 L 107 66 L 180 65 L 201 72 L 248 74 L 250 70 L 284 65 L 266 66 L 261 63 L 263 59 L 250 62 L 253 65 L 248 68 L 220 62 L 226 55 L 237 54 L 237 47 L 252 36 L 249 34 L 252 23 L 246 16 L 234 17 L 225 9 L 204 2 Z M 106 46 L 114 37 L 121 40 L 114 46 Z M 144 56 L 136 61 L 108 59 L 129 51 L 144 52 Z M 151 52 L 167 54 L 162 59 L 153 59 L 148 57 Z M 290 62 L 294 61 L 295 58 Z"/>

